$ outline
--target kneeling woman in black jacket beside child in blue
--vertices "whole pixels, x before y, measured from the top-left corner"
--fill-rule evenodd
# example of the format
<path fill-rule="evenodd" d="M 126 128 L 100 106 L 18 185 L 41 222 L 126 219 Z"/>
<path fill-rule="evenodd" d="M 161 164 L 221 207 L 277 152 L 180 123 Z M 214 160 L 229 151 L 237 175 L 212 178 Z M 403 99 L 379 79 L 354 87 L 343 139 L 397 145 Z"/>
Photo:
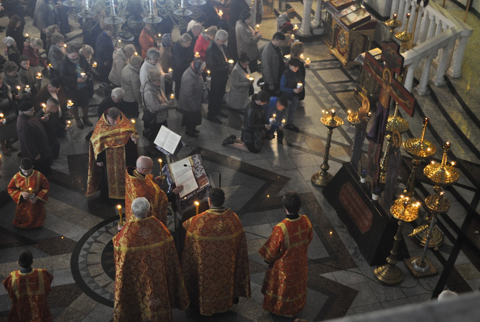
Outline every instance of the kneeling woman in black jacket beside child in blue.
<path fill-rule="evenodd" d="M 263 118 L 263 105 L 270 102 L 270 96 L 265 91 L 260 91 L 252 95 L 252 102 L 248 103 L 245 109 L 245 118 L 243 119 L 243 129 L 241 130 L 241 139 L 235 135 L 230 135 L 223 140 L 223 145 L 231 146 L 244 152 L 258 153 L 261 149 L 263 139 L 263 130 L 270 130 L 271 126 L 265 124 Z"/>

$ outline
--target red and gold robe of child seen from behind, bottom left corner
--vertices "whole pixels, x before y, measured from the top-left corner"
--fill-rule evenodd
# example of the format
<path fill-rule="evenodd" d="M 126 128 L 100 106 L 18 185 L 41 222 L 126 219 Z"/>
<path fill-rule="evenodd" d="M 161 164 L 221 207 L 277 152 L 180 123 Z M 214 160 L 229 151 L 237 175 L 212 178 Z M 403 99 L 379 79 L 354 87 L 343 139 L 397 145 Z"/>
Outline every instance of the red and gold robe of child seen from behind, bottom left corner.
<path fill-rule="evenodd" d="M 8 322 L 50 322 L 52 313 L 48 309 L 47 296 L 53 275 L 44 269 L 30 273 L 15 271 L 3 281 L 3 286 L 12 300 Z"/>

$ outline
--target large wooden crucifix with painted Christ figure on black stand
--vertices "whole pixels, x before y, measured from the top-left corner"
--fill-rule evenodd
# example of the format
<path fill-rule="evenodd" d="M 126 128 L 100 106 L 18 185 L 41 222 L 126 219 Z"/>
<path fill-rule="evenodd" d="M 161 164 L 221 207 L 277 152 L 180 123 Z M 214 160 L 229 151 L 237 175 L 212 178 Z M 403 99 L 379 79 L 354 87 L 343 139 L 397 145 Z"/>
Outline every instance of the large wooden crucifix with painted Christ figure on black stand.
<path fill-rule="evenodd" d="M 382 85 L 375 119 L 367 135 L 370 139 L 368 172 L 372 175 L 374 186 L 378 185 L 380 178 L 380 158 L 382 155 L 391 97 L 393 97 L 396 103 L 411 117 L 413 117 L 416 104 L 415 96 L 408 92 L 395 78 L 395 75 L 400 75 L 403 70 L 404 57 L 400 54 L 400 46 L 394 41 L 383 42 L 381 59 L 385 62 L 385 66 L 375 60 L 372 54 L 366 51 L 363 65 L 365 70 Z"/>

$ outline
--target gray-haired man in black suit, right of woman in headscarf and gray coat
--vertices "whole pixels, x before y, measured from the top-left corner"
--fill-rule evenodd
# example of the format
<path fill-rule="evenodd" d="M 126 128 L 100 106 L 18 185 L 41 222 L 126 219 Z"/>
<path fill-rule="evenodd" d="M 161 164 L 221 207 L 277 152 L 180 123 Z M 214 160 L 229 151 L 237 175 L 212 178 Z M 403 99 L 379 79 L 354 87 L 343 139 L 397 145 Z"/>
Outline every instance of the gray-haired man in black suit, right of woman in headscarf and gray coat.
<path fill-rule="evenodd" d="M 219 30 L 215 35 L 215 39 L 210 42 L 205 51 L 206 63 L 210 69 L 210 77 L 212 78 L 210 93 L 208 95 L 207 117 L 209 121 L 215 123 L 220 123 L 220 120 L 217 118 L 218 116 L 228 118 L 228 114 L 220 110 L 222 98 L 225 95 L 225 88 L 227 86 L 228 73 L 232 70 L 232 68 L 229 67 L 227 46 L 225 46 L 227 39 L 227 32 L 225 30 Z"/>

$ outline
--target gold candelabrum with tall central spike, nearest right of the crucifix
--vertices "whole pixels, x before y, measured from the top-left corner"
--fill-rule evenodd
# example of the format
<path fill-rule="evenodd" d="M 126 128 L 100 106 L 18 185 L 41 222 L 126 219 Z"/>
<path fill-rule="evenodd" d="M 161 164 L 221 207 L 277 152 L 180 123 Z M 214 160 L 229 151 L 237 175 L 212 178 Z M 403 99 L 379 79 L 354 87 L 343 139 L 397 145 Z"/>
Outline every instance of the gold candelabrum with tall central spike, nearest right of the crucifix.
<path fill-rule="evenodd" d="M 412 170 L 410 172 L 410 176 L 408 177 L 405 190 L 403 191 L 405 195 L 410 198 L 415 193 L 415 176 L 417 167 L 420 164 L 420 160 L 431 157 L 435 154 L 437 149 L 432 142 L 425 140 L 425 130 L 427 129 L 428 122 L 428 118 L 423 119 L 423 130 L 420 138 L 411 138 L 403 143 L 403 148 L 405 151 L 407 151 L 407 153 L 413 157 Z"/>

